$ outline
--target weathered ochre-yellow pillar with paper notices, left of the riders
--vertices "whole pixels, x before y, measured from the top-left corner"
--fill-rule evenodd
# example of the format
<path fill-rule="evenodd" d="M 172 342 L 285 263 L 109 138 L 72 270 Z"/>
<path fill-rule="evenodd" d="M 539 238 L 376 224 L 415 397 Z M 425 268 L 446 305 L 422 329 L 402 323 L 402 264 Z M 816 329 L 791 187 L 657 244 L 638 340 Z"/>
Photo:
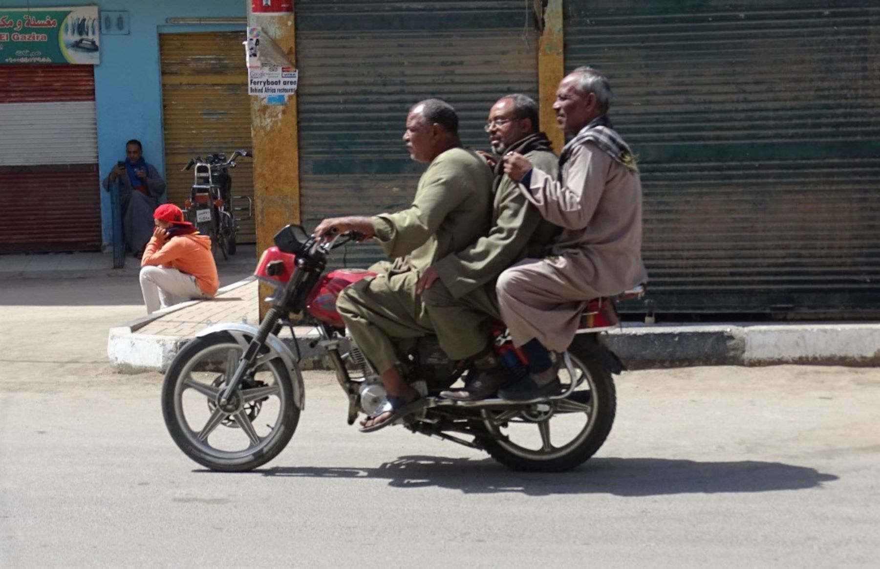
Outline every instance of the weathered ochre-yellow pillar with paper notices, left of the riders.
<path fill-rule="evenodd" d="M 255 14 L 247 1 L 248 26 L 258 26 L 282 48 L 296 64 L 296 26 L 294 14 Z M 244 60 L 244 48 L 242 48 Z M 245 72 L 245 71 L 243 71 Z M 257 231 L 257 255 L 272 246 L 272 236 L 284 225 L 299 223 L 299 137 L 297 97 L 289 96 L 284 105 L 270 105 L 266 99 L 251 97 L 251 136 L 253 137 L 253 205 Z M 260 283 L 260 299 L 271 292 Z M 267 307 L 260 302 L 260 318 Z"/>

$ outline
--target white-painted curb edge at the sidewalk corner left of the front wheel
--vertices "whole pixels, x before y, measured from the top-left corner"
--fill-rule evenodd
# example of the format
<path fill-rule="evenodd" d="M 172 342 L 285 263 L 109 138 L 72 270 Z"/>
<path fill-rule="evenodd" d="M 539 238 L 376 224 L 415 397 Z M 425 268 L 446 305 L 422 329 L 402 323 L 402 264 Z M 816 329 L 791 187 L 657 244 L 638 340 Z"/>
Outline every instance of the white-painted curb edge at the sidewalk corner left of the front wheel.
<path fill-rule="evenodd" d="M 217 291 L 217 294 L 233 291 L 239 286 L 247 285 L 253 281 L 253 278 L 249 277 L 224 286 Z M 165 372 L 180 347 L 186 344 L 190 338 L 137 334 L 136 332 L 165 314 L 172 314 L 200 302 L 203 300 L 181 302 L 173 307 L 163 308 L 153 314 L 128 321 L 122 326 L 111 328 L 107 334 L 107 358 L 110 358 L 110 365 L 113 366 L 114 371 L 117 373 Z"/>

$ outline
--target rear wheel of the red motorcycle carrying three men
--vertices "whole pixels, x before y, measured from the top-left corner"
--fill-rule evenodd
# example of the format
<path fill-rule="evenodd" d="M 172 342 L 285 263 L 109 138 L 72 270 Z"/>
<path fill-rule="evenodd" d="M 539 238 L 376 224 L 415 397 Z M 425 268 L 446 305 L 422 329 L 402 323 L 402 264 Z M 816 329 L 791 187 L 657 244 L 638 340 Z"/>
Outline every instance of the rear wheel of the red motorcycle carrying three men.
<path fill-rule="evenodd" d="M 611 373 L 578 350 L 569 348 L 581 385 L 566 399 L 510 410 L 484 410 L 488 437 L 483 446 L 510 469 L 558 472 L 587 461 L 605 442 L 614 422 L 616 396 Z M 566 366 L 560 381 L 570 381 Z"/>

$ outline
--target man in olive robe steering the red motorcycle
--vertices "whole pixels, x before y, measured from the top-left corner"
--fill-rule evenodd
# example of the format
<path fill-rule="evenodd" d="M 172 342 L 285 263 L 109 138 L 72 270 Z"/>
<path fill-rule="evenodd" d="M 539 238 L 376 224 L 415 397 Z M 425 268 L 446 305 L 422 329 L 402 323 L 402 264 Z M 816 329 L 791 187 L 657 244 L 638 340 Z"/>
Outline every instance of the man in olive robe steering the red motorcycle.
<path fill-rule="evenodd" d="M 466 248 L 488 230 L 492 171 L 486 160 L 461 147 L 458 115 L 442 100 L 416 104 L 403 134 L 410 157 L 428 162 L 412 206 L 372 218 L 329 218 L 318 235 L 356 230 L 378 239 L 391 266 L 377 277 L 348 286 L 336 307 L 348 333 L 378 371 L 387 398 L 363 432 L 377 431 L 419 410 L 424 403 L 397 368 L 396 341 L 424 336 L 431 324 L 415 292 L 422 272 L 438 259 Z"/>

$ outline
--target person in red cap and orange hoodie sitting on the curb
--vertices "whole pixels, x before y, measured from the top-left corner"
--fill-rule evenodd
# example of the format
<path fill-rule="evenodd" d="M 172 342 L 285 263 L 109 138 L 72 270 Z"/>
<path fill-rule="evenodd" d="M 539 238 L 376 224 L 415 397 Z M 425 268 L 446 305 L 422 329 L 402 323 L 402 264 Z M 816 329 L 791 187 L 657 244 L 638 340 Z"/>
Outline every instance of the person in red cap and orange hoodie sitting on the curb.
<path fill-rule="evenodd" d="M 220 286 L 211 240 L 183 212 L 165 203 L 153 214 L 156 228 L 141 259 L 141 292 L 147 314 L 186 300 L 213 299 Z"/>

